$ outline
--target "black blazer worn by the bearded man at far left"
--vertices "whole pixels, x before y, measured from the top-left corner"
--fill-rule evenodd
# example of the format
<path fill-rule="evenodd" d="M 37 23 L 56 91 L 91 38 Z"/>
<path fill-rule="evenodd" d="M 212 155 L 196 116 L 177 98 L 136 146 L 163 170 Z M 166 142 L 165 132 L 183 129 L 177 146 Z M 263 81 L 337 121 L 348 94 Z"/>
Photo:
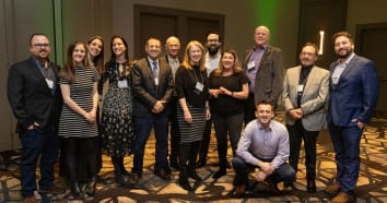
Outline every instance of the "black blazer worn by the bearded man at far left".
<path fill-rule="evenodd" d="M 23 133 L 37 122 L 42 132 L 57 129 L 62 108 L 58 84 L 60 67 L 50 62 L 56 81 L 54 94 L 36 64 L 35 58 L 12 64 L 8 74 L 8 99 L 17 120 L 17 132 Z"/>

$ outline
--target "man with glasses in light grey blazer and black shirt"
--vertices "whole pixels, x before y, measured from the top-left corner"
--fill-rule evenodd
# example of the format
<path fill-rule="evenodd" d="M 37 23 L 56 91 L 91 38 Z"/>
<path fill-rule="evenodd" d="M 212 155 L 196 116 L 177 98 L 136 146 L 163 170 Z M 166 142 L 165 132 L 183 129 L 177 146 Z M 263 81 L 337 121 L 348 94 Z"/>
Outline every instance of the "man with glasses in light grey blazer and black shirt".
<path fill-rule="evenodd" d="M 282 99 L 286 110 L 290 165 L 297 171 L 301 142 L 304 140 L 306 190 L 316 192 L 316 141 L 326 123 L 329 71 L 315 65 L 317 46 L 306 43 L 300 53 L 301 65 L 290 68 L 283 82 Z M 285 187 L 292 187 L 285 182 Z"/>

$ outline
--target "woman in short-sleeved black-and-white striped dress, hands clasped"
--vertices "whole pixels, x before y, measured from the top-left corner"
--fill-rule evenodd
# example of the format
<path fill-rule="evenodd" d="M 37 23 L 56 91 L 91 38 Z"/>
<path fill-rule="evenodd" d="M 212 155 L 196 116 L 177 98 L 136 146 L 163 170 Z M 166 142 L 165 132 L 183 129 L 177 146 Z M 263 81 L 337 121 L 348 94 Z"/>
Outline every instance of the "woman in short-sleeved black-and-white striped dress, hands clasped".
<path fill-rule="evenodd" d="M 85 168 L 82 168 L 87 177 L 93 177 L 97 172 L 97 146 L 93 140 L 98 135 L 96 110 L 99 74 L 94 67 L 87 65 L 86 55 L 85 44 L 80 41 L 71 44 L 59 81 L 63 97 L 59 135 L 63 138 L 62 150 L 66 153 L 66 171 L 70 178 L 71 194 L 77 200 L 84 199 L 79 186 L 79 157 L 87 160 Z M 89 181 L 92 182 L 92 180 Z M 93 188 L 87 188 L 86 192 L 93 195 L 95 186 L 87 184 Z"/>

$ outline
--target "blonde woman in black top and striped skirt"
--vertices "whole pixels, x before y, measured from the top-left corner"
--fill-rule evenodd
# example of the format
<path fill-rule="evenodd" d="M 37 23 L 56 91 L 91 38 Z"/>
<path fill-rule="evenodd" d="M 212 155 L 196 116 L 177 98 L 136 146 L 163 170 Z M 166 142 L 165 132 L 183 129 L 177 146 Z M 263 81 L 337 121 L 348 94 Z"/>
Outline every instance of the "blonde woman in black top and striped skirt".
<path fill-rule="evenodd" d="M 179 100 L 177 120 L 180 128 L 179 184 L 194 190 L 188 177 L 201 180 L 196 172 L 196 159 L 202 140 L 206 120 L 210 119 L 208 77 L 204 67 L 204 47 L 197 40 L 188 43 L 181 65 L 177 69 L 175 85 Z"/>

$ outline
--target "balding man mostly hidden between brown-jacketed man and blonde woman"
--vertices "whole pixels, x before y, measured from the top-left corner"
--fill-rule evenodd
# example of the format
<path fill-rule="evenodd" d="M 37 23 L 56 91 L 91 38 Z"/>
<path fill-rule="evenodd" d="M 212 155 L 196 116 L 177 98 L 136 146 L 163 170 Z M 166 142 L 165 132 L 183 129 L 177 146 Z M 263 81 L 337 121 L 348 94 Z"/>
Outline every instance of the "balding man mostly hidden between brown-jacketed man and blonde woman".
<path fill-rule="evenodd" d="M 180 51 L 180 40 L 175 37 L 171 36 L 165 41 L 165 59 L 168 62 L 173 76 L 175 79 L 176 71 L 180 65 L 179 59 L 179 51 Z M 179 151 L 179 140 L 180 140 L 180 131 L 178 129 L 177 123 L 177 94 L 174 93 L 171 101 L 171 115 L 168 116 L 169 124 L 171 124 L 171 132 L 169 132 L 169 143 L 171 143 L 171 153 L 169 153 L 169 166 L 179 169 L 178 164 L 178 151 Z"/>

